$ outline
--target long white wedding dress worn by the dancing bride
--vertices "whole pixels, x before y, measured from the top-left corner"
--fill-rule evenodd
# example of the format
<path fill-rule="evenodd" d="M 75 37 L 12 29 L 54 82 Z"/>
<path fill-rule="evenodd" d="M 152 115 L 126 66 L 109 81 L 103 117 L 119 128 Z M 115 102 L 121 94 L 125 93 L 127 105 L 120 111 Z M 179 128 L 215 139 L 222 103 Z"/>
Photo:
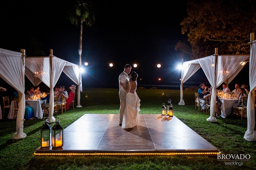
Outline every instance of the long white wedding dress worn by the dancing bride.
<path fill-rule="evenodd" d="M 136 82 L 137 84 L 137 82 Z M 129 82 L 129 88 L 131 89 L 131 84 Z M 134 128 L 139 119 L 140 111 L 140 99 L 136 93 L 126 93 L 126 105 L 124 110 L 124 117 L 122 128 Z"/>

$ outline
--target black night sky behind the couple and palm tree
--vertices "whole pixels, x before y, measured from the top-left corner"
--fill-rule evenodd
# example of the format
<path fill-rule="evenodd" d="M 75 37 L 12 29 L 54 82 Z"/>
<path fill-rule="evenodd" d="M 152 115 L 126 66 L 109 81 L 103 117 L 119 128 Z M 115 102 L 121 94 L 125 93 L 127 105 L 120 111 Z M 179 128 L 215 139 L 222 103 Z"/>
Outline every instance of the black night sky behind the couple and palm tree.
<path fill-rule="evenodd" d="M 174 48 L 186 39 L 180 22 L 186 16 L 187 0 L 96 2 L 95 24 L 83 25 L 82 62 L 89 62 L 82 75 L 83 86 L 117 88 L 127 63 L 138 64 L 132 71 L 138 73 L 141 86 L 179 86 L 180 72 L 175 66 L 181 60 Z M 35 52 L 48 56 L 53 49 L 53 55 L 78 64 L 79 27 L 66 17 L 72 6 L 50 0 L 5 2 L 0 11 L 0 48 L 26 49 L 27 56 L 35 56 Z M 114 66 L 110 68 L 108 63 Z M 156 67 L 159 63 L 161 68 Z M 188 81 L 200 84 L 202 77 L 204 73 L 196 74 Z M 162 80 L 158 82 L 158 78 Z M 56 85 L 71 85 L 69 79 L 65 81 L 66 76 L 61 75 Z"/>

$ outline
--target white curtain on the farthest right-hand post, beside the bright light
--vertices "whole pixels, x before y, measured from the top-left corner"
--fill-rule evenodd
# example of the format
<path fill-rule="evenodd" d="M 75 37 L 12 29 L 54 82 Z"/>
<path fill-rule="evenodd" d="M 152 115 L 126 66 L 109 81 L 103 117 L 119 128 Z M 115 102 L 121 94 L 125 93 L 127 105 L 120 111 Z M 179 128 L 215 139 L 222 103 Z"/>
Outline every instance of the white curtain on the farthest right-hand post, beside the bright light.
<path fill-rule="evenodd" d="M 181 84 L 180 84 L 180 102 L 179 105 L 185 105 L 183 100 L 183 83 L 187 81 L 201 66 L 199 64 L 192 64 L 190 62 L 184 62 L 181 72 Z"/>

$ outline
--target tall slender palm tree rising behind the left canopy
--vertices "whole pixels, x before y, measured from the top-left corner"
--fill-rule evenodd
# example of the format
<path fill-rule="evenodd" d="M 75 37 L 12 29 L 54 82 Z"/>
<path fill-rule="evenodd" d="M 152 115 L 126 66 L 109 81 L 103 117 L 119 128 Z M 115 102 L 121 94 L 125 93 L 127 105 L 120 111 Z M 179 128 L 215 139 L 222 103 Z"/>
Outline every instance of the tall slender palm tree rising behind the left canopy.
<path fill-rule="evenodd" d="M 83 22 L 88 26 L 91 27 L 94 24 L 95 17 L 95 8 L 91 1 L 88 0 L 77 0 L 77 4 L 68 11 L 68 20 L 76 26 L 80 24 L 80 36 L 79 36 L 79 66 L 82 66 L 82 32 L 83 32 Z M 83 91 L 82 88 L 82 76 L 80 73 L 80 91 Z"/>

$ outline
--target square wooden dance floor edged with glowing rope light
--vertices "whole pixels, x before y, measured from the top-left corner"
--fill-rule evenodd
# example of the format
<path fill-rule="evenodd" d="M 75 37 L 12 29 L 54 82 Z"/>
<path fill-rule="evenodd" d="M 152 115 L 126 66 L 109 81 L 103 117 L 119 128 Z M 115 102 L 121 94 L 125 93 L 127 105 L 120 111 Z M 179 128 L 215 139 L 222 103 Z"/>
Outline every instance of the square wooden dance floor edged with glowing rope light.
<path fill-rule="evenodd" d="M 37 148 L 56 156 L 217 156 L 220 151 L 175 116 L 140 115 L 137 126 L 122 129 L 117 114 L 85 114 L 65 128 L 61 149 Z"/>

